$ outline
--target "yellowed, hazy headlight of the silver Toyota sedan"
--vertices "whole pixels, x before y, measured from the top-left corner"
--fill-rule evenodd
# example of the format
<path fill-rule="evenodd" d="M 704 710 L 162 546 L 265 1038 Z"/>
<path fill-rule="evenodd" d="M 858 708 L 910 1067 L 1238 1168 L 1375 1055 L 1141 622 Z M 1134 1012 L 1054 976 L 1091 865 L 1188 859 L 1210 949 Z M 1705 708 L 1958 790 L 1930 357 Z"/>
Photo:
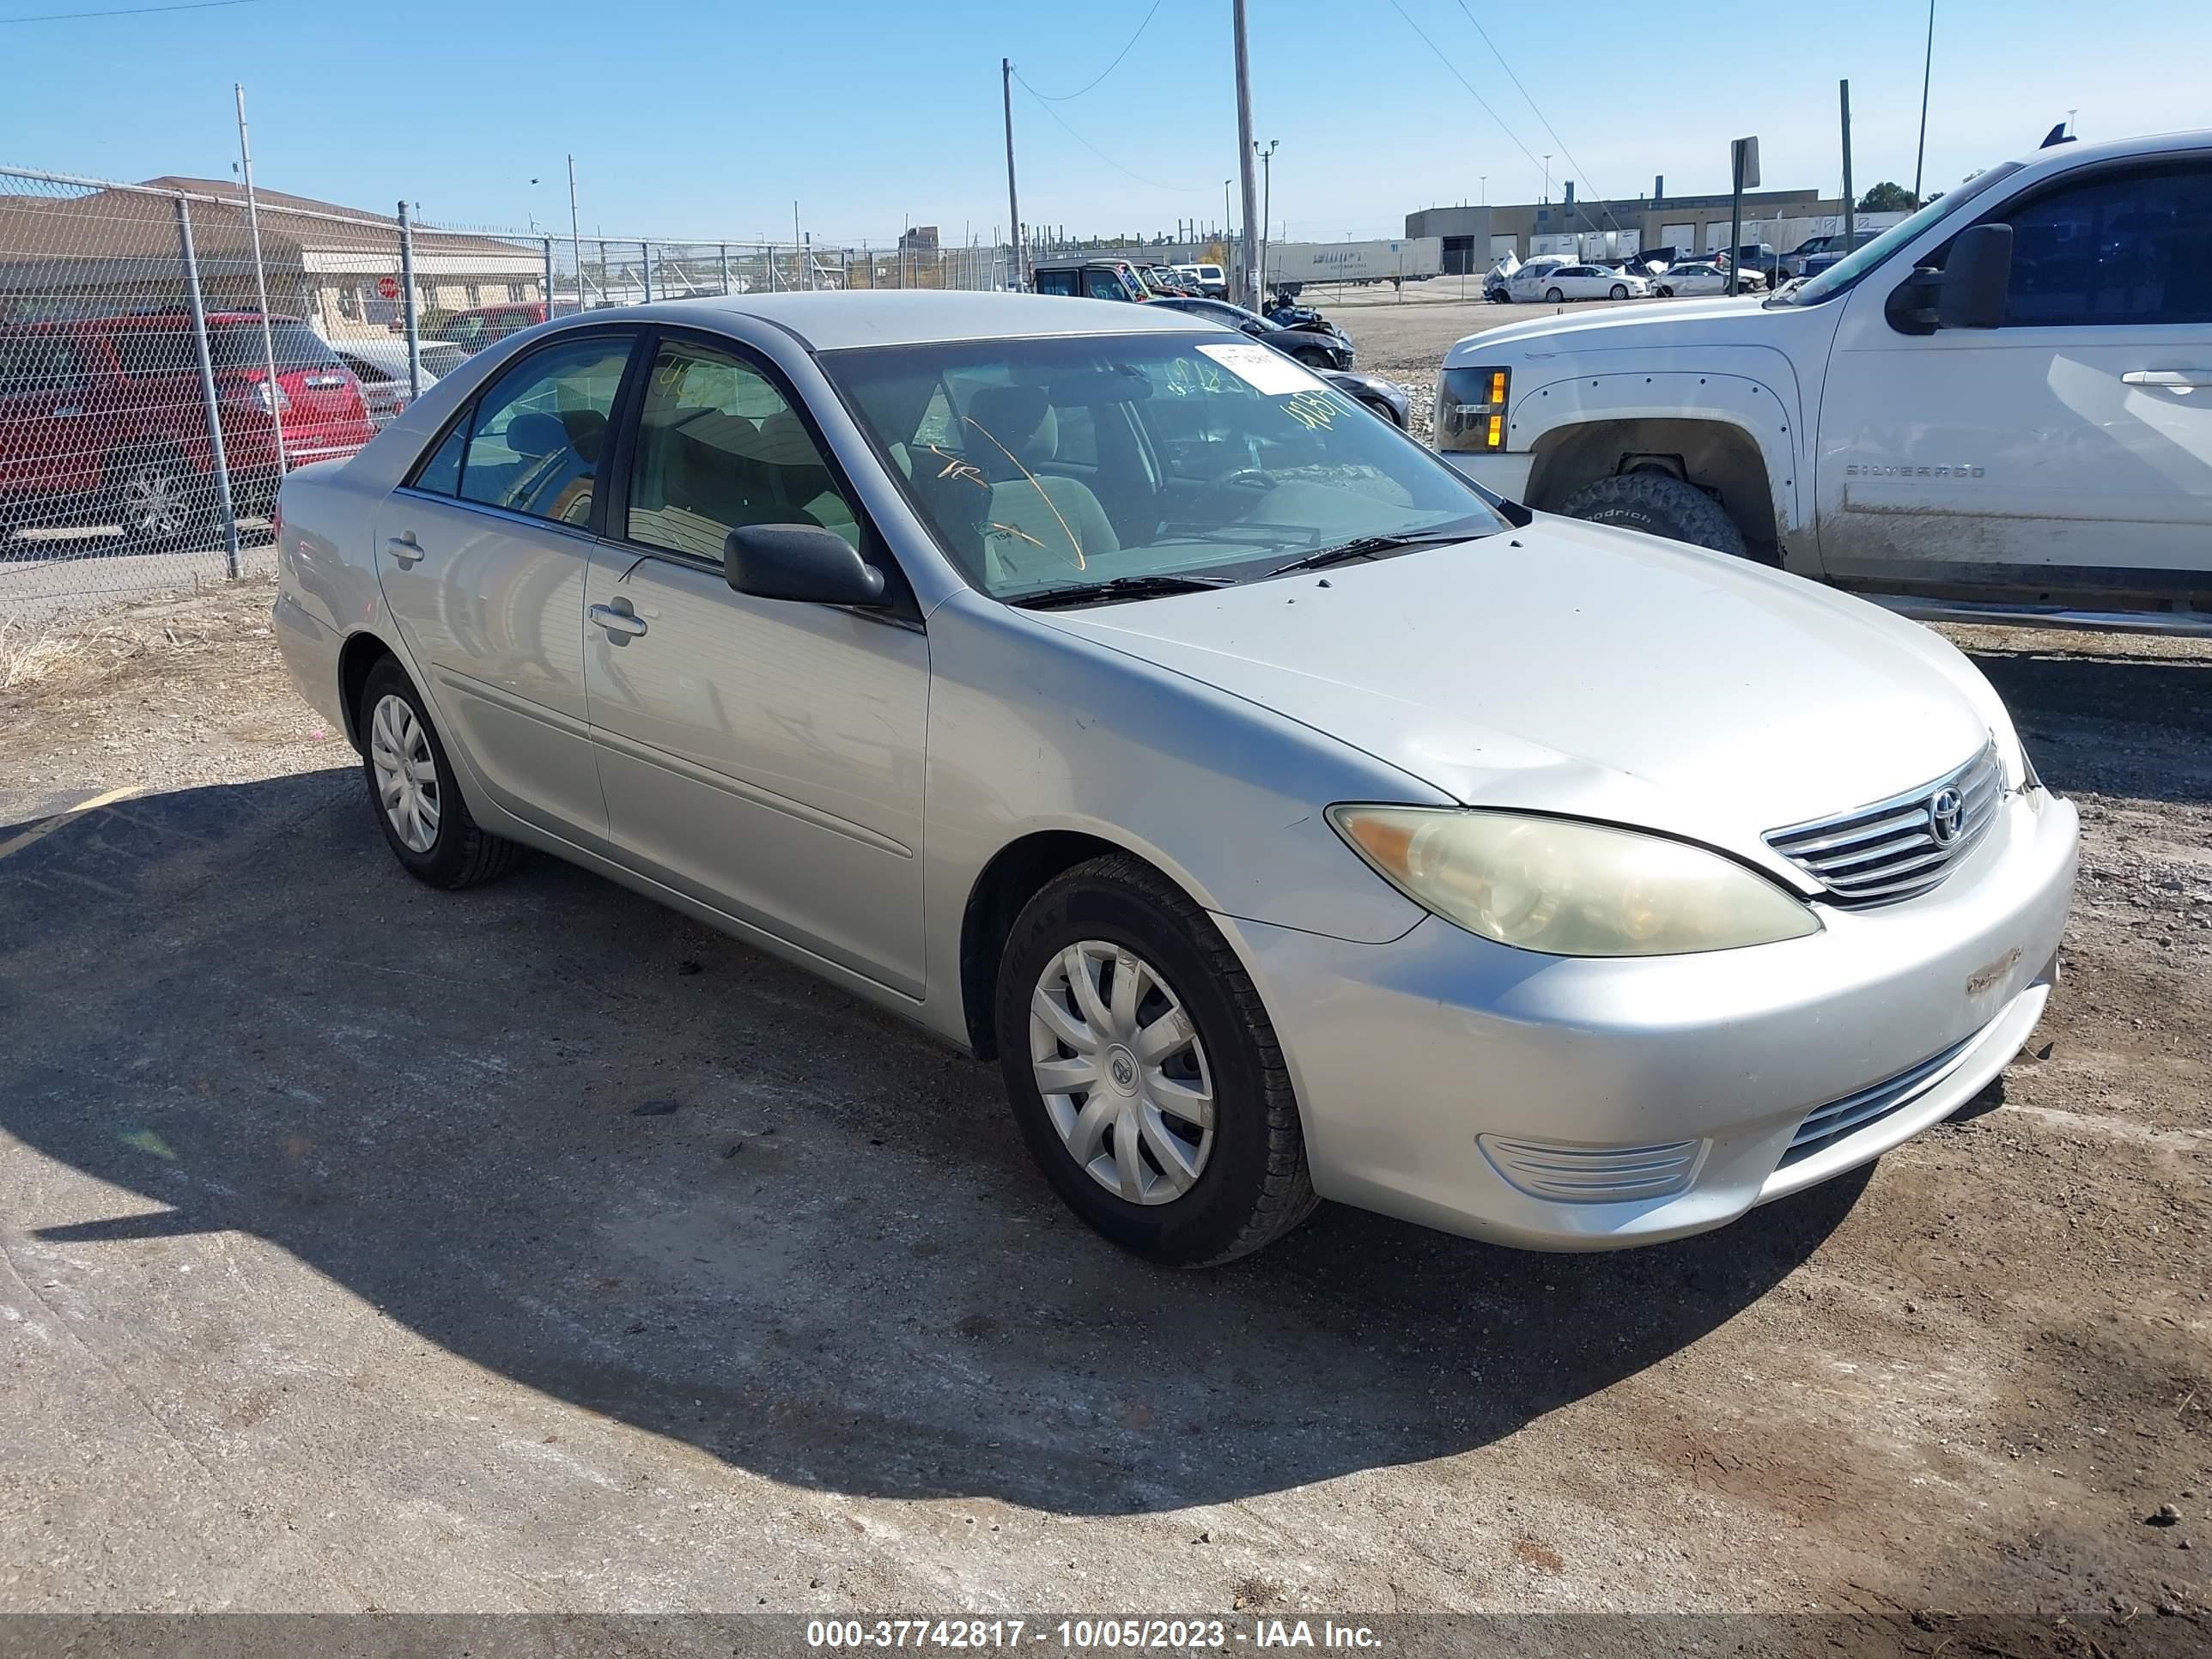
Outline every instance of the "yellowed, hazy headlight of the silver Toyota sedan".
<path fill-rule="evenodd" d="M 1820 931 L 1812 907 L 1719 854 L 1573 818 L 1329 807 L 1329 823 L 1427 911 L 1548 956 L 1686 956 Z"/>

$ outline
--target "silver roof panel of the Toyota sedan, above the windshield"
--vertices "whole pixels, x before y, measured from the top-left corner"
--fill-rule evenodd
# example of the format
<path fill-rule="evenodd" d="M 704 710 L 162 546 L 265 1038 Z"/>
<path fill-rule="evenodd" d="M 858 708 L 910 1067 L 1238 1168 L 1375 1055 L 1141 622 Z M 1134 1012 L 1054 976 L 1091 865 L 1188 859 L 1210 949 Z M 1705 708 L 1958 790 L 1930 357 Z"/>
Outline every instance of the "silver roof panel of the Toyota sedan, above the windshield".
<path fill-rule="evenodd" d="M 1201 330 L 1206 323 L 1166 305 L 1055 294 L 993 294 L 947 290 L 863 290 L 814 294 L 708 294 L 653 305 L 586 312 L 595 323 L 659 319 L 701 323 L 710 316 L 752 316 L 796 336 L 816 352 L 858 345 L 929 345 L 1048 334 L 1159 334 Z"/>

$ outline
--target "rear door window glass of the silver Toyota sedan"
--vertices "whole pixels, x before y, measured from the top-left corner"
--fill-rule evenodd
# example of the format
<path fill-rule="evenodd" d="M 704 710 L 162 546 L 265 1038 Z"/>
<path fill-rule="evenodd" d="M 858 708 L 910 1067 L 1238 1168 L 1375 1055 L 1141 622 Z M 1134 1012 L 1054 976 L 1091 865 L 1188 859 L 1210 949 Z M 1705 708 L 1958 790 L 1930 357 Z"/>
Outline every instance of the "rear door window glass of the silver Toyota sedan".
<path fill-rule="evenodd" d="M 462 425 L 453 491 L 465 502 L 560 524 L 591 520 L 591 489 L 599 476 L 606 422 L 615 411 L 630 338 L 586 336 L 531 352 L 476 400 Z M 442 445 L 416 476 L 436 489 L 447 460 Z"/>

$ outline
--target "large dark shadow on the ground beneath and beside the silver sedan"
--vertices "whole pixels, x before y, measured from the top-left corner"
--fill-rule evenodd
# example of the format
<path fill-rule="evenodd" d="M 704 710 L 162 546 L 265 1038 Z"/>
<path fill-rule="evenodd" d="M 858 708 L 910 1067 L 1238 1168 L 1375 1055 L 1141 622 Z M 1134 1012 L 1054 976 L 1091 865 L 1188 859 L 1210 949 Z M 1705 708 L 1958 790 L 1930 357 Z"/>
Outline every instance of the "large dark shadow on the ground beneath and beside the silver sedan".
<path fill-rule="evenodd" d="M 1732 1318 L 1865 1181 L 1628 1254 L 1325 1208 L 1157 1270 L 1060 1208 L 995 1068 L 551 858 L 427 891 L 352 772 L 86 814 L 7 860 L 0 927 L 0 1128 L 115 1188 L 35 1234 L 104 1316 L 190 1325 L 192 1281 L 135 1267 L 259 1234 L 529 1389 L 838 1493 L 1141 1513 L 1467 1451 Z"/>

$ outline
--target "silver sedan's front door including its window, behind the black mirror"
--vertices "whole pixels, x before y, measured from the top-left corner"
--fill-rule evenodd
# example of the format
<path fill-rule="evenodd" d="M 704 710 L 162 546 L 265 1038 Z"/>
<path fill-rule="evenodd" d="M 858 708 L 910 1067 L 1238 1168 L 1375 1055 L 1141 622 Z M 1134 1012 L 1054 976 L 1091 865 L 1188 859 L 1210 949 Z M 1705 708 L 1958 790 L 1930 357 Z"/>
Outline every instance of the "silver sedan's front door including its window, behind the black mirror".
<path fill-rule="evenodd" d="M 929 637 L 883 611 L 734 593 L 739 524 L 821 524 L 909 595 L 812 418 L 759 356 L 664 332 L 617 546 L 591 562 L 584 684 L 619 858 L 907 995 L 922 991 Z"/>

